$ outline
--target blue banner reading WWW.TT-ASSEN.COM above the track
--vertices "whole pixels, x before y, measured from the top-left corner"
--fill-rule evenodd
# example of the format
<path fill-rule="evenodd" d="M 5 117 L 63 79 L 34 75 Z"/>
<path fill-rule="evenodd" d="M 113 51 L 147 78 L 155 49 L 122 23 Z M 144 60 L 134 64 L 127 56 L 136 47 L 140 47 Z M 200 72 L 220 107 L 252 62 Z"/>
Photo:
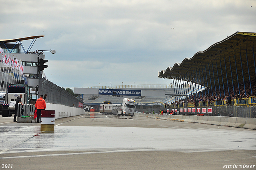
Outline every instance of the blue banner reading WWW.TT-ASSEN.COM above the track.
<path fill-rule="evenodd" d="M 99 94 L 104 95 L 115 95 L 117 96 L 141 96 L 141 90 L 118 90 L 118 89 L 102 89 L 99 88 Z"/>

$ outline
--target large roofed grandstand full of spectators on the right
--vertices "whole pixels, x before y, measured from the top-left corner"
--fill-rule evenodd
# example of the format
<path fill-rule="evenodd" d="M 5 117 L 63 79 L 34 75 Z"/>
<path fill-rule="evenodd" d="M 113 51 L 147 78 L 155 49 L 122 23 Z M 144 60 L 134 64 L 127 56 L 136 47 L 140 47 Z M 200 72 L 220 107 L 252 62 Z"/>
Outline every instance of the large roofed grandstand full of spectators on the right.
<path fill-rule="evenodd" d="M 254 32 L 236 32 L 205 51 L 197 52 L 192 58 L 185 58 L 181 63 L 158 72 L 158 77 L 204 86 L 205 89 L 200 92 L 191 89 L 190 106 L 198 107 L 196 103 L 199 103 L 199 106 L 204 103 L 204 107 L 213 109 L 214 115 L 222 112 L 222 116 L 236 114 L 239 117 L 255 117 L 255 40 Z M 232 109 L 222 108 L 222 111 L 219 111 L 214 106 L 229 106 Z M 244 107 L 244 110 L 238 111 L 236 106 L 250 108 Z M 240 115 L 241 112 L 245 115 Z"/>

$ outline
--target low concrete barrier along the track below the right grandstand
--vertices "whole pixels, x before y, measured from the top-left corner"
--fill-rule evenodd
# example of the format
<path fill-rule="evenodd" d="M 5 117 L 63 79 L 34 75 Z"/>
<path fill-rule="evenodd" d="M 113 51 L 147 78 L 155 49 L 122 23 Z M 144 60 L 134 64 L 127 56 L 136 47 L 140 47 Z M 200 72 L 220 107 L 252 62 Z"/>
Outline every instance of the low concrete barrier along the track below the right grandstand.
<path fill-rule="evenodd" d="M 162 115 L 135 113 L 134 116 L 156 118 L 163 120 L 174 120 L 179 122 L 192 122 L 202 124 L 212 124 L 218 126 L 230 126 L 236 128 L 246 128 L 256 130 L 256 118 L 237 118 L 224 116 L 196 116 L 196 115 Z"/>

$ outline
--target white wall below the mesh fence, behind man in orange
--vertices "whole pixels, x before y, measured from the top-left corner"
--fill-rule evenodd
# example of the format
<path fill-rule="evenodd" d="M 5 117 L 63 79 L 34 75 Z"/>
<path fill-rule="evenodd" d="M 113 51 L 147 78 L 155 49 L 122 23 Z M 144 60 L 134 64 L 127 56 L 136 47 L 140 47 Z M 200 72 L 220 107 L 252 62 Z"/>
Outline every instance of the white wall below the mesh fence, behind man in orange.
<path fill-rule="evenodd" d="M 55 110 L 55 119 L 77 116 L 85 113 L 82 108 L 73 108 L 52 103 L 46 103 L 46 110 Z"/>

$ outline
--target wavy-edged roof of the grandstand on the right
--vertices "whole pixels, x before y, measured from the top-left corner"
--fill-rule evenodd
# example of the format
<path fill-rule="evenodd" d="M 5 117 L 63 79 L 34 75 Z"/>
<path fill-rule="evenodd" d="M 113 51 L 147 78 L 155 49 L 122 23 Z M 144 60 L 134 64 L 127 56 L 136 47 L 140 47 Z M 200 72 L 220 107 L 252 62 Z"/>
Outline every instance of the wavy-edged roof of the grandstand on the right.
<path fill-rule="evenodd" d="M 238 80 L 243 80 L 243 75 L 244 81 L 246 82 L 249 80 L 248 67 L 250 78 L 256 78 L 256 71 L 254 67 L 255 51 L 256 33 L 236 32 L 231 36 L 228 36 L 224 40 L 213 44 L 208 49 L 202 52 L 197 52 L 192 58 L 185 58 L 181 63 L 176 63 L 174 64 L 174 66 L 168 67 L 166 68 L 166 70 L 158 72 L 158 77 L 182 79 L 190 82 L 195 82 L 204 86 L 204 82 L 205 84 L 207 83 L 206 74 L 208 76 L 208 82 L 210 81 L 210 70 L 212 83 L 214 83 L 214 77 L 215 81 L 218 80 L 219 77 L 219 82 L 221 82 L 222 84 L 223 76 L 223 82 L 224 84 L 226 84 L 227 79 L 228 82 L 232 81 L 232 78 L 235 81 L 237 80 L 237 76 Z M 230 72 L 230 66 L 232 69 L 232 74 Z M 196 75 L 198 75 L 198 81 Z M 200 78 L 202 82 L 200 81 Z"/>

